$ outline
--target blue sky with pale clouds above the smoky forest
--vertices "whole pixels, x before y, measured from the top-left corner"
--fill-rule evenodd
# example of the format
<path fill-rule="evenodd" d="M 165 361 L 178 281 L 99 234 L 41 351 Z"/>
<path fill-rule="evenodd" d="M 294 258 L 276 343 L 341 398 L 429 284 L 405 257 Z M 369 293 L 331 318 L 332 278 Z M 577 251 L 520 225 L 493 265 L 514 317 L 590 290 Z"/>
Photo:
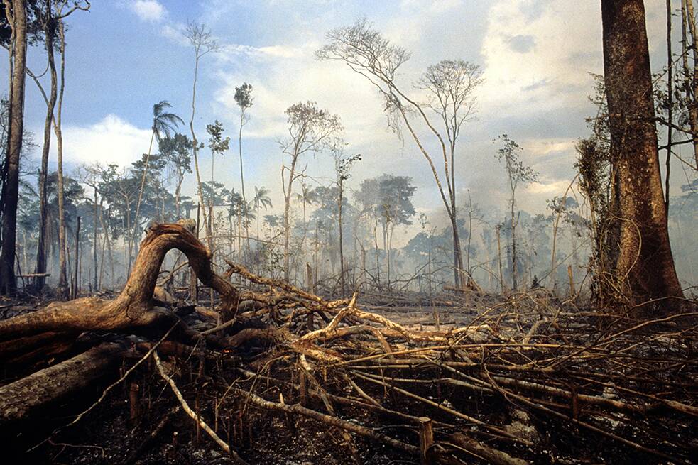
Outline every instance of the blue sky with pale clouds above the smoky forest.
<path fill-rule="evenodd" d="M 655 69 L 666 60 L 664 3 L 645 1 Z M 477 118 L 463 128 L 457 148 L 463 202 L 469 192 L 481 207 L 504 211 L 506 181 L 493 142 L 501 133 L 523 147 L 524 163 L 539 173 L 538 182 L 521 190 L 520 208 L 542 212 L 546 199 L 565 192 L 574 177 L 574 143 L 587 136 L 584 116 L 594 113 L 587 99 L 593 86 L 589 73 L 603 70 L 598 0 L 96 0 L 89 12 L 77 11 L 67 20 L 62 116 L 67 169 L 95 162 L 127 166 L 140 158 L 148 149 L 152 106 L 160 100 L 189 121 L 194 55 L 182 32 L 187 21 L 197 21 L 221 45 L 200 65 L 197 137 L 205 141 L 206 124 L 218 119 L 234 142 L 215 161 L 215 180 L 239 190 L 234 93 L 249 82 L 254 101 L 243 132 L 247 192 L 264 185 L 281 207 L 283 112 L 314 101 L 339 115 L 347 152 L 362 155 L 349 187 L 383 173 L 413 177 L 418 212 L 444 221 L 425 159 L 413 141 L 400 141 L 388 130 L 375 89 L 340 62 L 315 60 L 327 31 L 362 17 L 411 51 L 398 77 L 405 88 L 440 60 L 481 67 L 485 82 L 477 92 Z M 28 65 L 43 71 L 43 50 L 31 49 Z M 43 99 L 28 80 L 26 126 L 37 140 L 44 112 Z M 188 127 L 180 131 L 188 133 Z M 55 161 L 55 141 L 52 151 Z M 200 163 L 202 179 L 209 180 L 207 149 Z M 311 185 L 334 176 L 326 153 L 308 155 L 306 166 Z M 674 182 L 686 180 L 676 175 Z M 193 195 L 194 178 L 185 184 L 185 193 Z"/>

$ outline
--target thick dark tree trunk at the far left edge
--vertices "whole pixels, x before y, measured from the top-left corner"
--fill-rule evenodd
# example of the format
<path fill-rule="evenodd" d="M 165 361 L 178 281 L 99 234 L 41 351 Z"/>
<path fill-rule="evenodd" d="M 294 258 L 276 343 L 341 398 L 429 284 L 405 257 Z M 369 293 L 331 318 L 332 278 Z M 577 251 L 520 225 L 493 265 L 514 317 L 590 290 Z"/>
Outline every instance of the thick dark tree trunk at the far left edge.
<path fill-rule="evenodd" d="M 9 2 L 6 2 L 9 13 Z M 6 153 L 6 178 L 2 198 L 2 248 L 0 251 L 0 293 L 9 294 L 17 288 L 14 274 L 17 202 L 19 195 L 19 154 L 24 132 L 24 84 L 26 71 L 26 13 L 23 0 L 12 1 L 11 15 L 13 43 L 13 68 L 10 89 L 10 130 Z"/>

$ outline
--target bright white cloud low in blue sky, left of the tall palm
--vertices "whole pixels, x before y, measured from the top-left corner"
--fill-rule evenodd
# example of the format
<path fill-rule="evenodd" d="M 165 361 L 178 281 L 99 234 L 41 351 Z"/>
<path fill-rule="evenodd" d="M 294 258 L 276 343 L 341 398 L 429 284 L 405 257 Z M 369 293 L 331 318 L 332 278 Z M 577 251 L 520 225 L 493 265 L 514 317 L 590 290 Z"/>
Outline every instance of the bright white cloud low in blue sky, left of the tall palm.
<path fill-rule="evenodd" d="M 91 126 L 64 126 L 63 153 L 69 163 L 114 163 L 126 167 L 148 151 L 151 131 L 133 126 L 115 114 Z M 55 151 L 55 143 L 51 144 Z M 52 157 L 55 160 L 55 153 Z"/>

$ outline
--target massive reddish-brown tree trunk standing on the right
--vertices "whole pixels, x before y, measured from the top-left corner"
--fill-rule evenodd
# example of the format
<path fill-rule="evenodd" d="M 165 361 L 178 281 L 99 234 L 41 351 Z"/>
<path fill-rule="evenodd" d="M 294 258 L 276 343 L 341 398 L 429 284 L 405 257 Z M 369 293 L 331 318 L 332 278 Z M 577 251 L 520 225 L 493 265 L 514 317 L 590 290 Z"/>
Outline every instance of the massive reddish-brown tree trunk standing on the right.
<path fill-rule="evenodd" d="M 620 290 L 635 305 L 682 297 L 660 177 L 643 1 L 602 0 L 601 19 L 611 156 L 618 164 Z"/>

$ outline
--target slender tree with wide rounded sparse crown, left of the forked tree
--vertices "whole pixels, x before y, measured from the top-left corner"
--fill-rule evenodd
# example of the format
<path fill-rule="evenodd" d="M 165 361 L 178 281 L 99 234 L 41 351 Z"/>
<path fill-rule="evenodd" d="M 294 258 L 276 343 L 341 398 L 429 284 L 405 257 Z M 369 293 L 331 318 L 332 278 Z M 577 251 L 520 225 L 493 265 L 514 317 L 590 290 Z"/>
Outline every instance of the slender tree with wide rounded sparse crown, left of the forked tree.
<path fill-rule="evenodd" d="M 327 110 L 317 107 L 315 102 L 298 103 L 286 109 L 288 122 L 288 137 L 280 141 L 284 155 L 290 157 L 290 166 L 281 167 L 281 185 L 283 186 L 283 276 L 290 276 L 290 206 L 293 192 L 293 182 L 302 175 L 298 173 L 298 160 L 307 152 L 321 151 L 332 146 L 332 137 L 342 130 L 339 116 L 330 114 Z M 288 180 L 285 177 L 288 170 Z"/>

